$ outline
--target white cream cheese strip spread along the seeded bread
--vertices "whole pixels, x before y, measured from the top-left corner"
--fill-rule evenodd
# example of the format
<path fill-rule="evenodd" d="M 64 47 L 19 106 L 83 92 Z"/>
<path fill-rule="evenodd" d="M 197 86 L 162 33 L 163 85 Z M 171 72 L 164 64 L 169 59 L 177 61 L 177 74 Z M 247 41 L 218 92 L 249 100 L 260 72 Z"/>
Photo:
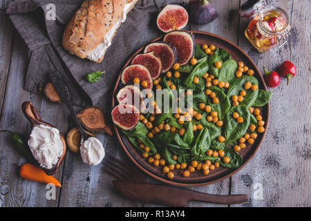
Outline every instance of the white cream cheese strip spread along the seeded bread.
<path fill-rule="evenodd" d="M 117 28 L 120 26 L 120 23 L 123 23 L 126 20 L 126 14 L 127 14 L 127 12 L 129 11 L 129 8 L 131 8 L 132 5 L 133 5 L 133 2 L 132 3 L 127 3 L 124 6 L 122 18 L 119 19 L 119 21 L 117 21 L 115 23 L 115 25 L 109 30 L 109 32 L 106 33 L 106 35 L 104 36 L 103 41 L 94 50 L 92 50 L 86 56 L 86 57 L 88 57 L 88 59 L 91 59 L 93 61 L 98 61 L 99 59 L 102 58 L 102 55 L 104 54 L 104 51 L 107 48 L 109 48 L 109 46 L 111 46 L 111 41 L 113 39 L 113 34 L 117 30 Z"/>

